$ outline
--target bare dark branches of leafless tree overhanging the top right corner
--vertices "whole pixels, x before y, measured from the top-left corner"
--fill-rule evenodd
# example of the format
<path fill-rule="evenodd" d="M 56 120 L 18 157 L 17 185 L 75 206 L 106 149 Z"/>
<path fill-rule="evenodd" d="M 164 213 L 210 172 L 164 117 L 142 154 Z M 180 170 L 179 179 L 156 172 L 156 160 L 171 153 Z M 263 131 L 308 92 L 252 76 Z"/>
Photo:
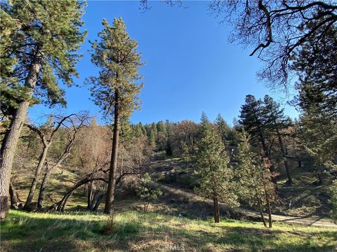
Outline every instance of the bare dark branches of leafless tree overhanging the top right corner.
<path fill-rule="evenodd" d="M 296 50 L 310 36 L 321 40 L 337 21 L 333 0 L 216 0 L 209 3 L 209 10 L 220 22 L 234 25 L 230 41 L 253 47 L 251 56 L 264 63 L 258 76 L 282 90 L 288 90 L 289 64 Z"/>

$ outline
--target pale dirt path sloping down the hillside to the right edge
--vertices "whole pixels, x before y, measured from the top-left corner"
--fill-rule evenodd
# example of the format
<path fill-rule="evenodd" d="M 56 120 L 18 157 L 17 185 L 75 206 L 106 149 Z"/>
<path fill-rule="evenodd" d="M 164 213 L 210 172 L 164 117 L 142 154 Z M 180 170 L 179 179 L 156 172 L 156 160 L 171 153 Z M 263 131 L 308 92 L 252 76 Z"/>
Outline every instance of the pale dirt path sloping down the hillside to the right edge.
<path fill-rule="evenodd" d="M 213 204 L 212 200 L 207 200 L 204 197 L 200 197 L 198 195 L 195 195 L 194 193 L 186 192 L 185 190 L 181 190 L 179 188 L 173 188 L 171 186 L 165 186 L 161 183 L 154 183 L 154 185 L 159 186 L 162 190 L 166 190 L 169 193 L 173 193 L 176 195 L 180 195 L 183 197 L 187 197 L 188 199 L 197 200 L 199 202 L 206 202 L 208 204 Z M 221 207 L 225 209 L 229 209 L 229 207 L 223 203 L 219 203 Z M 244 214 L 246 216 L 253 216 L 253 217 L 259 217 L 260 213 L 257 211 L 252 211 L 248 209 L 243 209 L 241 207 L 235 207 L 234 209 L 231 209 L 234 212 L 237 212 L 239 214 Z M 320 218 L 307 218 L 307 217 L 296 217 L 296 216 L 280 216 L 276 214 L 272 214 L 272 220 L 273 221 L 280 221 L 284 223 L 295 223 L 300 225 L 306 225 L 306 226 L 315 226 L 315 227 L 323 227 L 323 228 L 336 228 L 337 225 L 333 222 L 329 221 L 322 221 Z"/>

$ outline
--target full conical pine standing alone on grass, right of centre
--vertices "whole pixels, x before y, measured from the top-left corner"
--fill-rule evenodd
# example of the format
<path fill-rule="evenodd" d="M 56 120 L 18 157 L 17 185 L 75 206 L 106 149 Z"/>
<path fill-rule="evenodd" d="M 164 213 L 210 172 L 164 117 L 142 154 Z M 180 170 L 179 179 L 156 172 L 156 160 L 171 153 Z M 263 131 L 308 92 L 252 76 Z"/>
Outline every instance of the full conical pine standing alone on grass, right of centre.
<path fill-rule="evenodd" d="M 230 158 L 213 125 L 205 113 L 201 116 L 201 138 L 197 151 L 197 171 L 201 177 L 199 192 L 213 199 L 214 221 L 219 223 L 220 213 L 218 201 L 222 200 L 230 206 L 237 204 L 233 193 L 232 170 L 228 167 Z"/>

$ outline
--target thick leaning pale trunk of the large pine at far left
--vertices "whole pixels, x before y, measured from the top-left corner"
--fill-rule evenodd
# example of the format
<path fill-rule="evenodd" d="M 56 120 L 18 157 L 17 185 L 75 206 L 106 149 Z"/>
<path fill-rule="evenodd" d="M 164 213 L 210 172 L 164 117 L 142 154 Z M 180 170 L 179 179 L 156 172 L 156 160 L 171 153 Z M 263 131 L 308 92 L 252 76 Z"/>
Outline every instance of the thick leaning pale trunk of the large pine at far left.
<path fill-rule="evenodd" d="M 18 109 L 15 111 L 15 114 L 11 120 L 11 125 L 9 126 L 8 135 L 6 135 L 6 139 L 4 139 L 0 160 L 0 197 L 2 197 L 0 204 L 5 204 L 4 206 L 0 205 L 1 209 L 8 209 L 8 193 L 9 193 L 9 183 L 11 180 L 11 170 L 13 166 L 13 160 L 15 155 L 15 149 L 18 145 L 18 140 L 22 131 L 22 127 L 27 118 L 27 111 L 30 104 L 30 97 L 32 97 L 32 93 L 34 87 L 37 83 L 37 77 L 40 71 L 40 62 L 41 62 L 41 52 L 39 48 L 36 50 L 36 54 L 34 55 L 34 59 L 29 68 L 28 76 L 25 80 L 25 87 L 29 88 L 29 99 L 23 102 L 20 102 Z"/>

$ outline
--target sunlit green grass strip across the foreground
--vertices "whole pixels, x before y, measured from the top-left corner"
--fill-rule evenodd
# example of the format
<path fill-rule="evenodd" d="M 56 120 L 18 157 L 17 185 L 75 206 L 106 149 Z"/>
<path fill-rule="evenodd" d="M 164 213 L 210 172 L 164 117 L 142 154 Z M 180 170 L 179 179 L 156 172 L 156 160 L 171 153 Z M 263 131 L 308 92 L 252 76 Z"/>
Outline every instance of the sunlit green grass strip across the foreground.
<path fill-rule="evenodd" d="M 190 220 L 125 211 L 103 235 L 107 216 L 10 211 L 1 223 L 4 251 L 334 251 L 337 230 L 275 223 Z"/>

